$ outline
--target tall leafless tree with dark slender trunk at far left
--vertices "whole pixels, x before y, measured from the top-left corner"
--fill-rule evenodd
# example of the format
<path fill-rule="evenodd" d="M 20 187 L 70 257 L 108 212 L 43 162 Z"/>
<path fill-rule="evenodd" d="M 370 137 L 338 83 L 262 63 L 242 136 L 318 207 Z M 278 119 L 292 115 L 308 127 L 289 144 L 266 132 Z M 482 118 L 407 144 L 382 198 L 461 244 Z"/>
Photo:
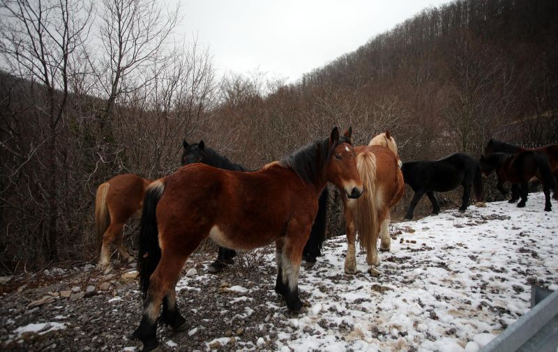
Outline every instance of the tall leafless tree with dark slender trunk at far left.
<path fill-rule="evenodd" d="M 3 69 L 18 77 L 22 86 L 20 91 L 27 91 L 29 106 L 25 111 L 10 109 L 3 114 L 3 134 L 8 139 L 16 139 L 20 153 L 12 169 L 3 177 L 8 178 L 8 187 L 17 188 L 18 193 L 27 194 L 33 199 L 36 208 L 43 215 L 40 231 L 40 243 L 44 243 L 44 256 L 47 260 L 56 260 L 59 218 L 59 136 L 63 130 L 65 109 L 68 102 L 68 72 L 71 56 L 82 45 L 89 30 L 89 13 L 87 3 L 70 3 L 68 0 L 26 1 L 2 0 L 0 22 L 0 54 L 3 57 Z M 39 83 L 38 86 L 35 84 Z M 38 89 L 38 93 L 33 93 Z M 10 91 L 8 97 L 10 98 Z M 20 118 L 33 116 L 29 121 L 27 132 L 33 136 L 22 135 L 22 130 L 15 132 L 9 126 Z M 12 121 L 8 121 L 12 120 Z M 3 146 L 6 144 L 2 144 Z M 9 150 L 9 148 L 6 148 Z M 25 187 L 19 183 L 24 165 L 34 162 L 36 173 L 23 175 L 27 185 L 33 182 L 35 187 Z M 31 176 L 29 176 L 31 175 Z M 3 199 L 7 201 L 8 199 Z M 17 206 L 15 207 L 17 208 Z M 22 210 L 22 208 L 20 208 Z M 43 232 L 47 233 L 43 240 Z"/>

